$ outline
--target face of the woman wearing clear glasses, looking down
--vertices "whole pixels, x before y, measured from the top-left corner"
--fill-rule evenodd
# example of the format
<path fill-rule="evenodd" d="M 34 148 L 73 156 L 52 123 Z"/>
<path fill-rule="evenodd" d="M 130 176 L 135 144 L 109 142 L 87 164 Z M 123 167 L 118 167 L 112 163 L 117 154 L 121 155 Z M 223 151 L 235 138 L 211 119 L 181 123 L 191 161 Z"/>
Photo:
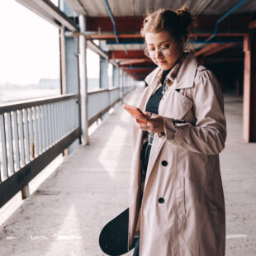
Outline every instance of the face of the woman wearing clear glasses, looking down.
<path fill-rule="evenodd" d="M 173 38 L 168 31 L 147 32 L 145 42 L 150 58 L 160 69 L 171 69 L 182 54 L 182 47 L 178 40 Z"/>

